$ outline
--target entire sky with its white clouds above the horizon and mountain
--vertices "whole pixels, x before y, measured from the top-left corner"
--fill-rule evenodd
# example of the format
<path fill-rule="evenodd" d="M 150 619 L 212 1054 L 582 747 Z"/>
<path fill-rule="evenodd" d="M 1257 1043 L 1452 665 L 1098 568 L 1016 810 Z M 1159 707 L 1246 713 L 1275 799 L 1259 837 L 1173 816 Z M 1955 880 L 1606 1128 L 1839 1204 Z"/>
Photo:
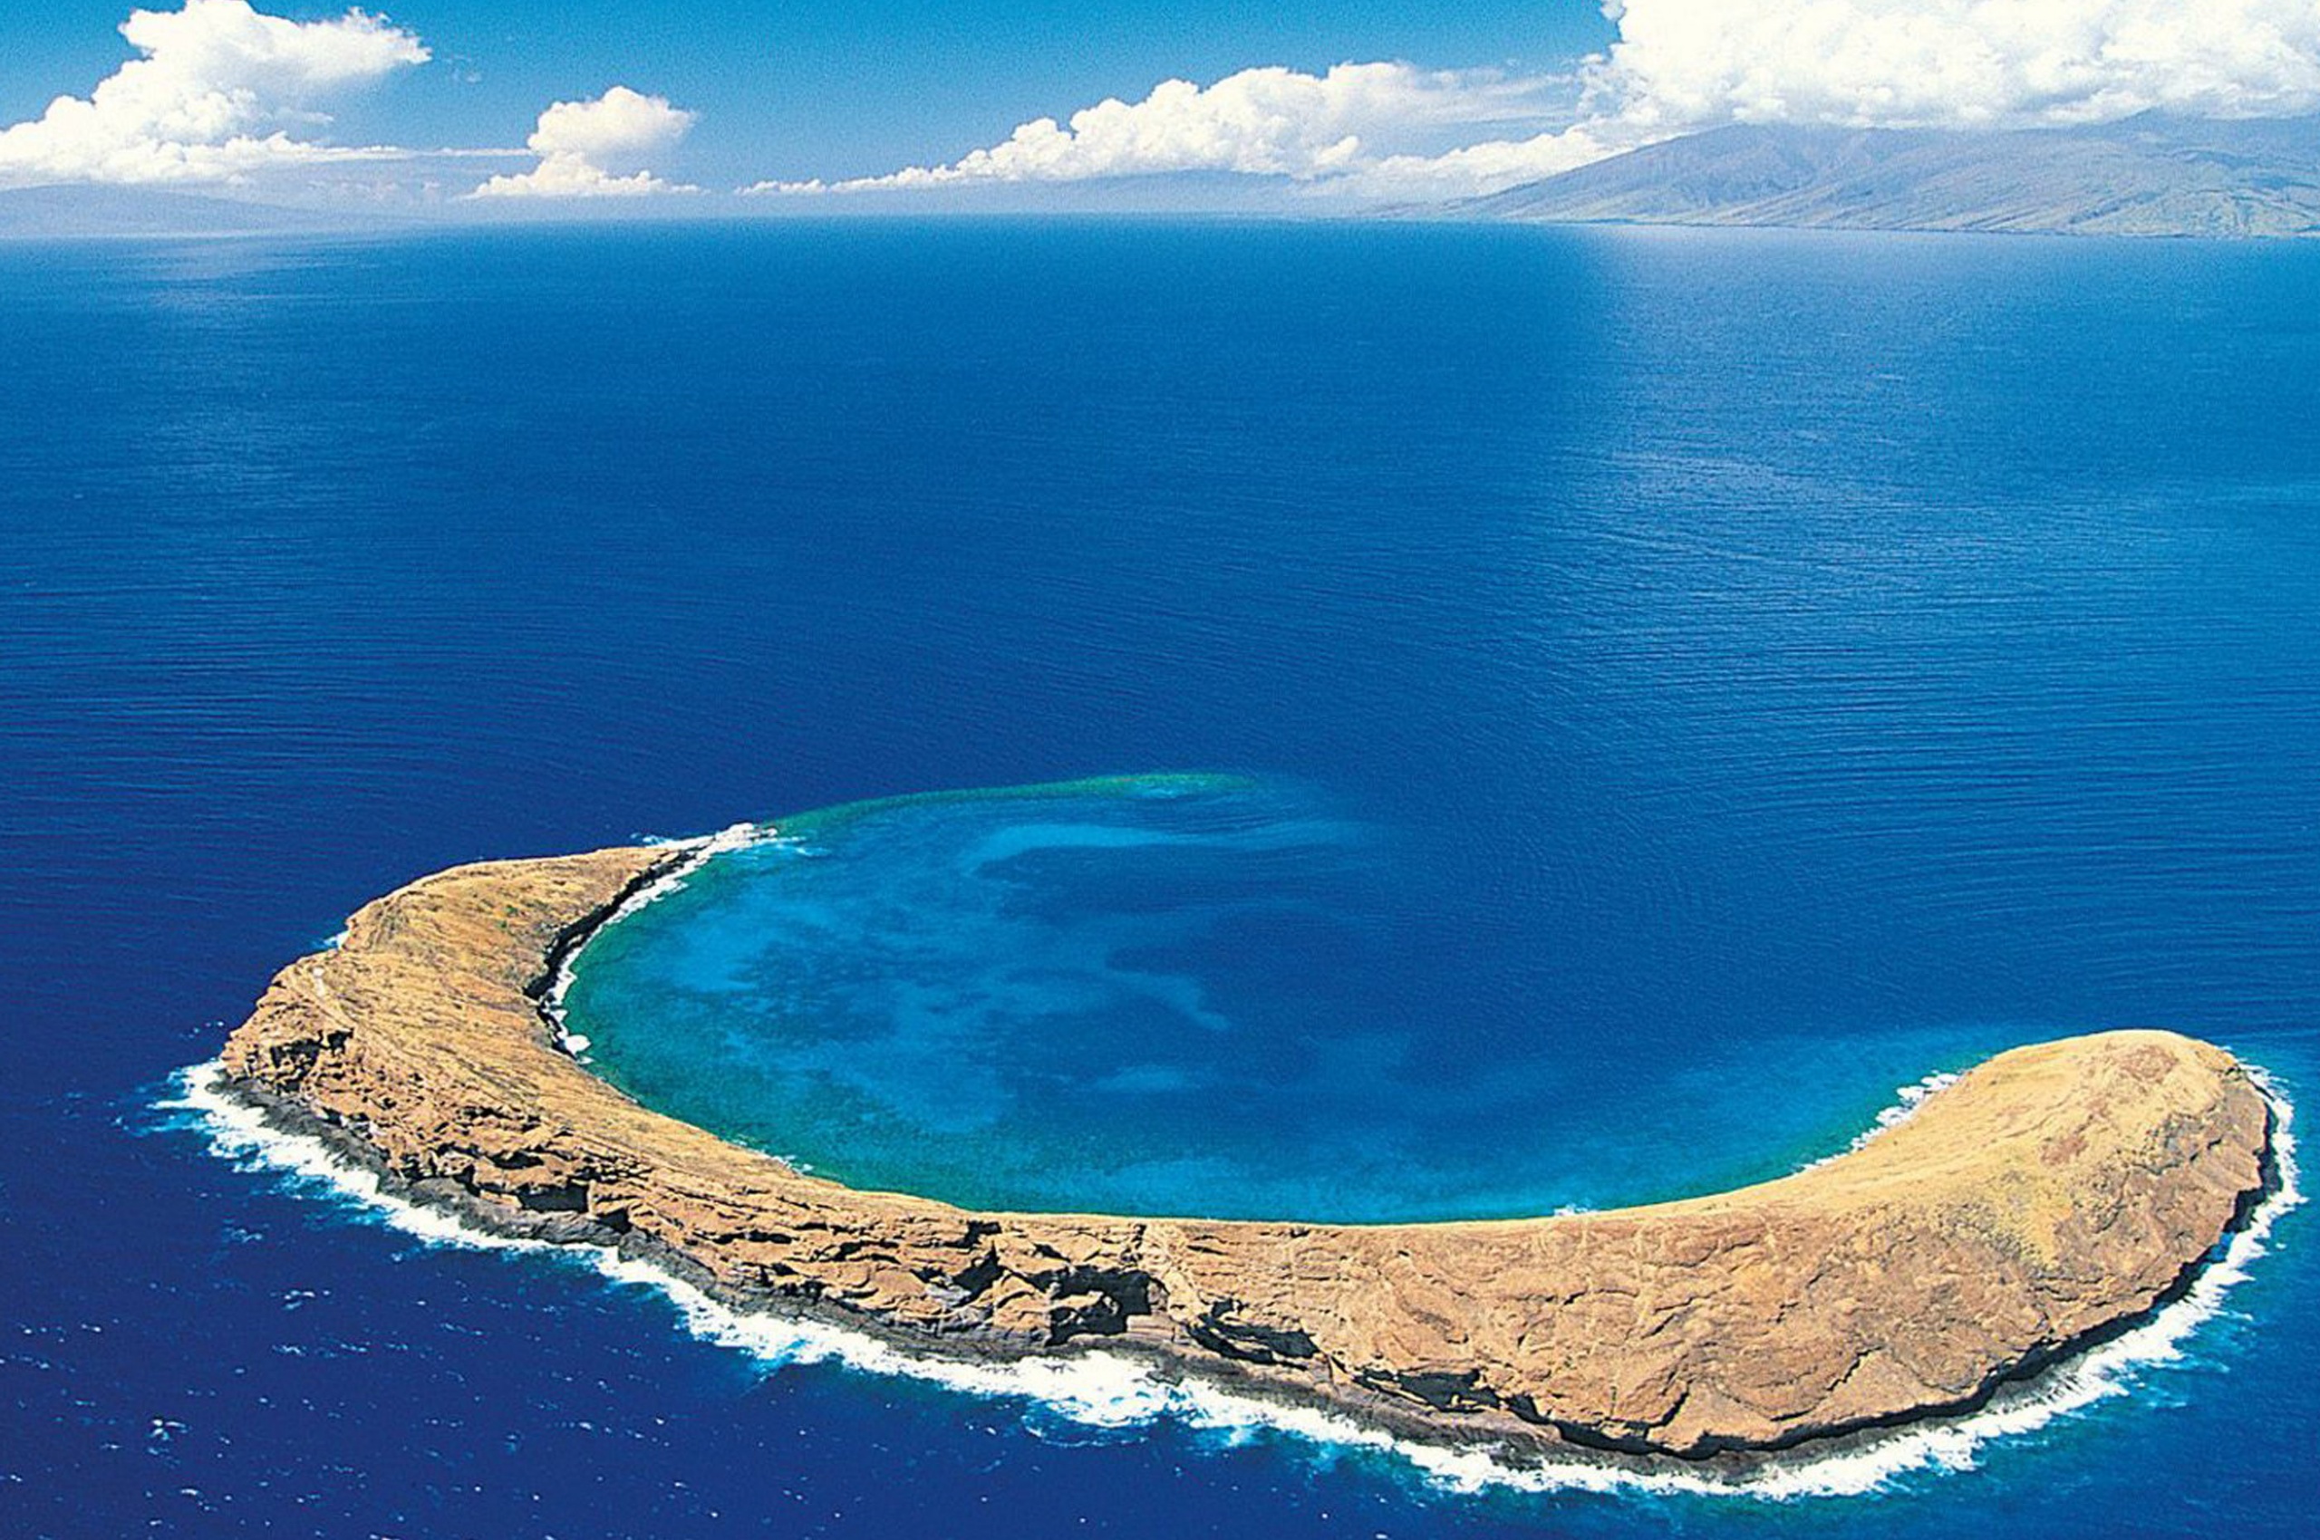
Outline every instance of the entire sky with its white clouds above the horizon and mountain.
<path fill-rule="evenodd" d="M 1724 123 L 2320 111 L 2313 0 L 146 2 L 0 0 L 0 188 L 1329 209 Z"/>

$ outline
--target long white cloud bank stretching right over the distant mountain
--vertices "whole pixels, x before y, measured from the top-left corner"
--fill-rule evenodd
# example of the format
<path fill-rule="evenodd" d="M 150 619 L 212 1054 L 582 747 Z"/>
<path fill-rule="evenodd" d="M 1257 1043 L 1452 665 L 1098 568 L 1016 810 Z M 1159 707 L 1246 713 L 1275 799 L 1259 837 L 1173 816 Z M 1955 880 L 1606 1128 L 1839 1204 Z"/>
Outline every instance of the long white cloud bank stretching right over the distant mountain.
<path fill-rule="evenodd" d="M 1554 81 L 1244 70 L 1165 81 L 933 167 L 749 192 L 861 192 L 1160 172 L 1285 176 L 1357 197 L 1489 192 L 1724 123 L 2037 128 L 2162 109 L 2320 111 L 2320 0 L 1605 0 L 1617 42 Z M 1529 123 L 1522 123 L 1529 118 Z M 1506 132 L 1513 125 L 1527 132 Z M 1441 144 L 1445 125 L 1499 125 Z"/>

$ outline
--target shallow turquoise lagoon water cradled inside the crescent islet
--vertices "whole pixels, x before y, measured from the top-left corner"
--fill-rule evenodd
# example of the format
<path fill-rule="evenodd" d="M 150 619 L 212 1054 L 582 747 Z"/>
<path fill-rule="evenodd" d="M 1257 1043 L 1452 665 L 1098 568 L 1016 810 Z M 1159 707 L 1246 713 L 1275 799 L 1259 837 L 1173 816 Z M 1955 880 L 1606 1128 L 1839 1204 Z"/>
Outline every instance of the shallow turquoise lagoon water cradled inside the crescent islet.
<path fill-rule="evenodd" d="M 1754 1041 L 1752 1062 L 1819 1060 L 1824 1083 L 1775 1106 L 1733 1097 L 1749 1069 L 1712 1044 L 1680 1067 L 1573 1053 L 1527 1020 L 1550 928 L 1459 944 L 1487 898 L 1411 830 L 1283 779 L 912 796 L 775 835 L 599 932 L 571 1030 L 650 1106 L 970 1206 L 1401 1220 L 1668 1197 L 1840 1148 L 1895 1076 L 2009 1041 Z"/>

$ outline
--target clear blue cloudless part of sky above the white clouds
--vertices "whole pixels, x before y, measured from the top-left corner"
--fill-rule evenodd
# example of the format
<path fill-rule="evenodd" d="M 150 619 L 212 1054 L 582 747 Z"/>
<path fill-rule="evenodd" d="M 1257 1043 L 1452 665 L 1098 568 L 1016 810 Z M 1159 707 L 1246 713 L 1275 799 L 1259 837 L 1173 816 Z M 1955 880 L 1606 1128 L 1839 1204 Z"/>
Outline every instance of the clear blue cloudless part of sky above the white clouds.
<path fill-rule="evenodd" d="M 169 7 L 174 0 L 144 0 Z M 0 0 L 0 123 L 86 95 L 125 58 L 132 0 Z M 343 5 L 262 5 L 320 21 Z M 1612 28 L 1592 0 L 515 0 L 387 2 L 434 58 L 336 102 L 334 137 L 515 146 L 552 100 L 624 83 L 698 114 L 684 172 L 708 186 L 868 176 L 951 160 L 1016 123 L 1169 77 L 1250 65 L 1568 70 Z"/>

